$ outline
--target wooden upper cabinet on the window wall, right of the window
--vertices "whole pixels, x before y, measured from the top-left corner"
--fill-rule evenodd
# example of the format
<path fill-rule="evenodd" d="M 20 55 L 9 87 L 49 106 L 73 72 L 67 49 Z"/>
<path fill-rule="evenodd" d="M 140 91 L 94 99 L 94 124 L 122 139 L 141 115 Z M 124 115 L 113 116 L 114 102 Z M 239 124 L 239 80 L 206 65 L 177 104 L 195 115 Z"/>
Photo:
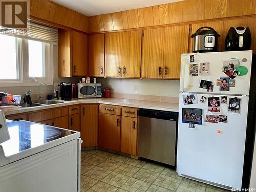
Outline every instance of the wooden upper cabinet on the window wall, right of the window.
<path fill-rule="evenodd" d="M 58 30 L 58 65 L 60 77 L 86 76 L 88 37 L 85 33 Z"/>

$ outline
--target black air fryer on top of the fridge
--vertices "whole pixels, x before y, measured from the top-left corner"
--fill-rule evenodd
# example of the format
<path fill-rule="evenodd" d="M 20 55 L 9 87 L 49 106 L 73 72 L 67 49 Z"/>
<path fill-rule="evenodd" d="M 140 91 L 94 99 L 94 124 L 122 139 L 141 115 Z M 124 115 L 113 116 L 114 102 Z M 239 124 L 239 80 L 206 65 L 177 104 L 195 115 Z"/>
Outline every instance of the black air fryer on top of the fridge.
<path fill-rule="evenodd" d="M 245 51 L 251 46 L 249 27 L 230 27 L 225 40 L 226 51 Z"/>

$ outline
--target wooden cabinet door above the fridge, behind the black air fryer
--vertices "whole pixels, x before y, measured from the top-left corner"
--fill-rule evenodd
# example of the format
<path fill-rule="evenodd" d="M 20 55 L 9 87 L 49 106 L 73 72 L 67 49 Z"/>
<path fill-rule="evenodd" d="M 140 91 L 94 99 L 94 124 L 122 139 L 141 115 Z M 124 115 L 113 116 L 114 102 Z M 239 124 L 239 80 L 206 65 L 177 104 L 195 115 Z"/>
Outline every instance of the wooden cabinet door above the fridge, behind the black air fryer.
<path fill-rule="evenodd" d="M 237 26 L 247 26 L 250 28 L 251 32 L 251 50 L 253 52 L 256 52 L 256 17 L 253 18 L 242 18 L 242 19 L 232 19 L 232 20 L 225 20 L 224 21 L 224 27 L 223 27 L 223 47 L 222 50 L 224 50 L 224 41 L 225 37 L 227 35 L 227 32 L 230 27 L 237 27 Z"/>

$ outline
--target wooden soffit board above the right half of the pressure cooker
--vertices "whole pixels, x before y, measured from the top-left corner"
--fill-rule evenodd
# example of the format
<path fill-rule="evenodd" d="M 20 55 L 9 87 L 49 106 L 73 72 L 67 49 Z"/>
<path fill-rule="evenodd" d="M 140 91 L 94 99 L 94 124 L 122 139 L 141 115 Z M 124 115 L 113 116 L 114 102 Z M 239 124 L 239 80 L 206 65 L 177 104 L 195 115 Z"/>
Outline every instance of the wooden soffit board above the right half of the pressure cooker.
<path fill-rule="evenodd" d="M 222 0 L 205 0 L 205 19 L 221 17 L 221 2 Z"/>

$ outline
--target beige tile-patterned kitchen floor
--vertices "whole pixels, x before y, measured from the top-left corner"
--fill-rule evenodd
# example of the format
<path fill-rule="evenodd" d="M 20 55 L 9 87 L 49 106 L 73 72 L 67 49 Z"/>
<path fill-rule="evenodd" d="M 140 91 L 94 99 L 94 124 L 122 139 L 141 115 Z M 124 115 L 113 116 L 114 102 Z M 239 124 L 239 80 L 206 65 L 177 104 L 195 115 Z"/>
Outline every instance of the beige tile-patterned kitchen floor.
<path fill-rule="evenodd" d="M 99 150 L 81 152 L 81 191 L 226 192 L 163 165 Z"/>

